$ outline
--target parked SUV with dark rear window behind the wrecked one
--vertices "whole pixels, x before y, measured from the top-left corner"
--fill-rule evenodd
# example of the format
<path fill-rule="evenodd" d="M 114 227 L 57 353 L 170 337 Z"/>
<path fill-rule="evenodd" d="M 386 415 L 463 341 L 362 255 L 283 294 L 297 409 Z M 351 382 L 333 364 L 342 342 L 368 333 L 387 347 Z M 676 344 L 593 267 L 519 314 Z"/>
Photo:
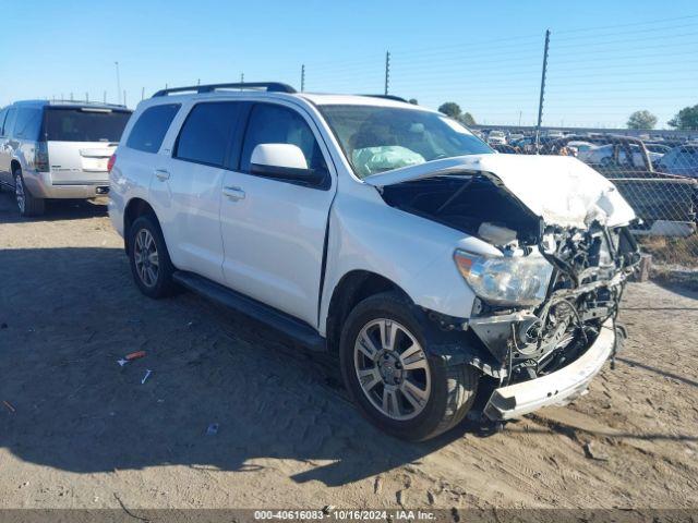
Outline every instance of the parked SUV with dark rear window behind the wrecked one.
<path fill-rule="evenodd" d="M 107 162 L 131 111 L 76 101 L 16 101 L 0 111 L 0 187 L 15 193 L 23 216 L 47 198 L 107 194 Z"/>

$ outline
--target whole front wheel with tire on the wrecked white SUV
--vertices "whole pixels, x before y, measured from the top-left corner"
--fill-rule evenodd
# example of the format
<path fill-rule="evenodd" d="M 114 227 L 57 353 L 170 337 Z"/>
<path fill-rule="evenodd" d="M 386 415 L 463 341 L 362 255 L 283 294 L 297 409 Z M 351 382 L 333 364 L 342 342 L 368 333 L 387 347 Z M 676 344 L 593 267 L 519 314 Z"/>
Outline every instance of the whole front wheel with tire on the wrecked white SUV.
<path fill-rule="evenodd" d="M 422 441 L 455 427 L 476 398 L 477 369 L 431 355 L 431 329 L 421 309 L 388 292 L 359 303 L 341 332 L 350 396 L 371 422 L 400 439 Z"/>

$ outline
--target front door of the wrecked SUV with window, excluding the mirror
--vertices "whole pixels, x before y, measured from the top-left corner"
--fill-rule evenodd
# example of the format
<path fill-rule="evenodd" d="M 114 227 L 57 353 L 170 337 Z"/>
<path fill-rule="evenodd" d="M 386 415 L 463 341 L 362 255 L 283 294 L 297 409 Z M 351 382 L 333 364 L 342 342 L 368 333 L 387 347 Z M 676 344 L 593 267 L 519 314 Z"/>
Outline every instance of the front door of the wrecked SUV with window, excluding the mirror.
<path fill-rule="evenodd" d="M 250 110 L 240 167 L 224 175 L 224 275 L 230 288 L 317 327 L 325 232 L 336 182 L 315 123 L 301 111 L 281 102 L 258 102 Z M 325 181 L 309 186 L 251 174 L 251 155 L 260 144 L 299 146 L 308 166 L 325 172 Z"/>

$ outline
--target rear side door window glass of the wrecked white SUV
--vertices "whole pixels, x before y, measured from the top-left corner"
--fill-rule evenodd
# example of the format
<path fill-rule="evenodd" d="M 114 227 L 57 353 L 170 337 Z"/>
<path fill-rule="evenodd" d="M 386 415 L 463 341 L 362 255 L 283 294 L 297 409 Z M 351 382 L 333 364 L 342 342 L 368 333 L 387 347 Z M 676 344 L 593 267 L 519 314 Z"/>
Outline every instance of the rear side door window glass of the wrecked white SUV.
<path fill-rule="evenodd" d="M 222 167 L 231 133 L 240 120 L 240 102 L 197 104 L 186 117 L 177 138 L 174 157 Z"/>

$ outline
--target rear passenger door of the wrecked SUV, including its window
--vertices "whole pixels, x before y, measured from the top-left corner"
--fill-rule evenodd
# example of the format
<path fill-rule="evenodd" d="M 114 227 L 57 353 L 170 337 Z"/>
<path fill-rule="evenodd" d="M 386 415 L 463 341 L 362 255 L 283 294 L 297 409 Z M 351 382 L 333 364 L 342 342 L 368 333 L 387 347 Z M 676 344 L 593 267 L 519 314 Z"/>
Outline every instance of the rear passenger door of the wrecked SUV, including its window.
<path fill-rule="evenodd" d="M 177 268 L 224 283 L 220 199 L 229 146 L 245 104 L 201 101 L 181 125 L 171 157 L 160 156 L 151 199 L 167 223 Z"/>

